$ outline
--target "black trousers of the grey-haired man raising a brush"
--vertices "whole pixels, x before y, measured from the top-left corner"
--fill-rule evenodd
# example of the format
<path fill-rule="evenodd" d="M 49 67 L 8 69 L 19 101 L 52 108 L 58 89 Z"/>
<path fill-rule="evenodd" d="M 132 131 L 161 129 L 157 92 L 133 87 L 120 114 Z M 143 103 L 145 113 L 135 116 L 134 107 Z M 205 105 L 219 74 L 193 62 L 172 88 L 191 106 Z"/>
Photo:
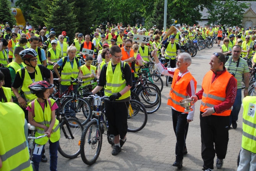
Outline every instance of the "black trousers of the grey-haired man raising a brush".
<path fill-rule="evenodd" d="M 186 147 L 186 137 L 188 134 L 188 114 L 172 109 L 173 130 L 176 135 L 175 154 L 176 160 L 183 160 L 183 149 Z"/>

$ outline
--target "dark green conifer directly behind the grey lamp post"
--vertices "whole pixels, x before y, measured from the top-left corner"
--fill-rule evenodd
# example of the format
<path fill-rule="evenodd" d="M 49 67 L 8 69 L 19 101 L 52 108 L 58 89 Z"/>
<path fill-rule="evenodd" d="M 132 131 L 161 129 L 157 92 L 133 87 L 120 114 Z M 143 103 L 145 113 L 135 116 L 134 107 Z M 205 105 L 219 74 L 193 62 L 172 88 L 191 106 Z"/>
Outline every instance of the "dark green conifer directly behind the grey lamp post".
<path fill-rule="evenodd" d="M 171 10 L 167 9 L 166 26 L 169 27 L 172 24 L 170 17 Z M 147 29 L 152 28 L 153 25 L 157 25 L 160 30 L 164 27 L 164 0 L 156 0 L 154 3 L 152 13 L 146 18 L 145 27 Z"/>

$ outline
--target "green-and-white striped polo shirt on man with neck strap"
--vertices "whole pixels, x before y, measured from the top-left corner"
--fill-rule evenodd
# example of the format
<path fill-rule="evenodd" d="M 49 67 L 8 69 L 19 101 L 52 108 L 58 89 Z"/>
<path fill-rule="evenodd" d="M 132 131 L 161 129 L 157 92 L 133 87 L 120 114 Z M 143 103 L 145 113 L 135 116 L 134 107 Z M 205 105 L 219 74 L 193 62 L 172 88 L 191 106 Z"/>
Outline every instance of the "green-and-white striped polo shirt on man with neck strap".
<path fill-rule="evenodd" d="M 231 62 L 230 62 L 230 59 L 231 59 Z M 244 60 L 243 58 L 240 58 L 238 67 L 237 67 L 237 62 L 234 62 L 232 56 L 230 56 L 227 62 L 225 63 L 225 67 L 228 72 L 235 74 L 235 79 L 237 79 L 237 89 L 241 89 L 243 74 L 248 73 L 249 68 L 246 63 L 246 60 Z"/>

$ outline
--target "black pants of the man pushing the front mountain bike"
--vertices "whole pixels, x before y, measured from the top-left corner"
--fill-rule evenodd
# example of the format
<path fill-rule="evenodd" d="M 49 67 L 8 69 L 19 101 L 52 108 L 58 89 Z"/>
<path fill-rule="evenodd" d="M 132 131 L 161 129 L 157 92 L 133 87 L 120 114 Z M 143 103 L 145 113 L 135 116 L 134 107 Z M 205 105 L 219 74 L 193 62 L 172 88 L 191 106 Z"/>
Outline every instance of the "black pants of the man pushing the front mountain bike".
<path fill-rule="evenodd" d="M 128 117 L 129 101 L 127 102 L 112 102 L 105 100 L 106 117 L 111 135 L 120 135 L 120 138 L 125 138 L 127 133 L 127 117 Z"/>

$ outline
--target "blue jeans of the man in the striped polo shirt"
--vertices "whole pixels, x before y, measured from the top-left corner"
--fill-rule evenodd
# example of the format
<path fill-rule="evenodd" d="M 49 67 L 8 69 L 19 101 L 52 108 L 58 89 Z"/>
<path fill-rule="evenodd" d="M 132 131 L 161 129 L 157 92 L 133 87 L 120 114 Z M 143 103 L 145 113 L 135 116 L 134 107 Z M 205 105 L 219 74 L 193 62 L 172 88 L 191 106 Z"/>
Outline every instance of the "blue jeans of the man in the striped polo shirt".
<path fill-rule="evenodd" d="M 235 98 L 235 103 L 233 104 L 233 108 L 231 114 L 229 116 L 229 125 L 232 124 L 232 121 L 238 120 L 238 114 L 242 105 L 242 89 L 237 89 L 237 97 Z"/>

